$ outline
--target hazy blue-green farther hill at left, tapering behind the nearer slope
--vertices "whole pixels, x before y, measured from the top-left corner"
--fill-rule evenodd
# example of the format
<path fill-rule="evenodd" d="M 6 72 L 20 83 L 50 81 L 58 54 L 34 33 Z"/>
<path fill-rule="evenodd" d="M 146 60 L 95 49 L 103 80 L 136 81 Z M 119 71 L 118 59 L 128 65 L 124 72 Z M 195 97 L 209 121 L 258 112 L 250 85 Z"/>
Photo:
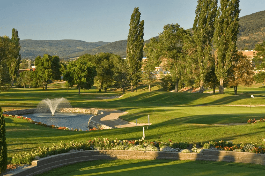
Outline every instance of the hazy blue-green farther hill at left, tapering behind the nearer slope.
<path fill-rule="evenodd" d="M 109 42 L 89 43 L 82 40 L 20 40 L 20 54 L 22 58 L 35 59 L 44 54 L 63 57 L 87 49 L 106 45 Z"/>

